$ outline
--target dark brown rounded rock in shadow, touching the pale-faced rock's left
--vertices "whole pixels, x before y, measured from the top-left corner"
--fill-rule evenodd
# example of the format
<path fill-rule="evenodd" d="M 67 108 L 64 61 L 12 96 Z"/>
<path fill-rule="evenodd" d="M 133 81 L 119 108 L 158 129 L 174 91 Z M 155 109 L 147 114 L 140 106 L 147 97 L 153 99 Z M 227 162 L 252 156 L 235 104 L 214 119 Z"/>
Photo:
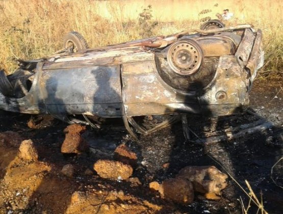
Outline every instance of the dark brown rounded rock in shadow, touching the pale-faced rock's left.
<path fill-rule="evenodd" d="M 179 204 L 190 204 L 194 201 L 192 182 L 182 178 L 171 178 L 162 182 L 163 198 Z"/>

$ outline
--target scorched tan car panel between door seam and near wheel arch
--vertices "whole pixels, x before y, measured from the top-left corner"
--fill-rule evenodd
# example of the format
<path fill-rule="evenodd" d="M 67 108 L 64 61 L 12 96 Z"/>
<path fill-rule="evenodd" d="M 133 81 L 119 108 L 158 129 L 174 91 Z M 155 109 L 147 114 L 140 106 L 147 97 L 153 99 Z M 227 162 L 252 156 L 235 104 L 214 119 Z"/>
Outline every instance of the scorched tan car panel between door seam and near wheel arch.
<path fill-rule="evenodd" d="M 174 112 L 197 113 L 196 97 L 177 92 L 159 77 L 154 61 L 122 65 L 123 103 L 127 116 L 166 114 Z M 130 72 L 131 68 L 135 70 Z M 126 71 L 124 73 L 124 71 Z M 152 72 L 152 73 L 150 73 Z"/>

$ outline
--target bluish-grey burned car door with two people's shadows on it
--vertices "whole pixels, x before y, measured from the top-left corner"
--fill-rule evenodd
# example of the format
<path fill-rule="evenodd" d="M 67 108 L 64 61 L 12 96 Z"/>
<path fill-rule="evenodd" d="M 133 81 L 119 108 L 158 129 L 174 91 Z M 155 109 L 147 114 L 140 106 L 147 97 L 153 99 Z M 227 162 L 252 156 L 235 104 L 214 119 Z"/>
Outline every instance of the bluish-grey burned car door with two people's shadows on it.
<path fill-rule="evenodd" d="M 49 113 L 122 115 L 118 65 L 48 70 L 40 84 Z"/>

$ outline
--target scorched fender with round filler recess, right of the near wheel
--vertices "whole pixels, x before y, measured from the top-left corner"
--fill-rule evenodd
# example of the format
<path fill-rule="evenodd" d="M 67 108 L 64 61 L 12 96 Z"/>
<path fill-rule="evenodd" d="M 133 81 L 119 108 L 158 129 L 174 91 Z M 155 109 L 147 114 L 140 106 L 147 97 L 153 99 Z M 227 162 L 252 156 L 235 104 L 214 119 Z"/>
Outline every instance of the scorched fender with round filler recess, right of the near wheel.
<path fill-rule="evenodd" d="M 246 79 L 247 74 L 235 56 L 220 57 L 214 81 L 199 98 L 202 108 L 209 109 L 214 115 L 236 113 L 249 102 Z"/>

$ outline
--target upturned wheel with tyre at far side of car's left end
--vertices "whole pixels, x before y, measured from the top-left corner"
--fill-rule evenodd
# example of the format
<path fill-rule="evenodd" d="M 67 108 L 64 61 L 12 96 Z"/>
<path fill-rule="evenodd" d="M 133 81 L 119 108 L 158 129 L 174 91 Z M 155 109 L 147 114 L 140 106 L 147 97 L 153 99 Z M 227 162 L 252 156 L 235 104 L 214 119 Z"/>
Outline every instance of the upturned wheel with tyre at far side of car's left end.
<path fill-rule="evenodd" d="M 64 37 L 63 47 L 75 53 L 87 49 L 88 43 L 79 32 L 72 31 Z"/>

